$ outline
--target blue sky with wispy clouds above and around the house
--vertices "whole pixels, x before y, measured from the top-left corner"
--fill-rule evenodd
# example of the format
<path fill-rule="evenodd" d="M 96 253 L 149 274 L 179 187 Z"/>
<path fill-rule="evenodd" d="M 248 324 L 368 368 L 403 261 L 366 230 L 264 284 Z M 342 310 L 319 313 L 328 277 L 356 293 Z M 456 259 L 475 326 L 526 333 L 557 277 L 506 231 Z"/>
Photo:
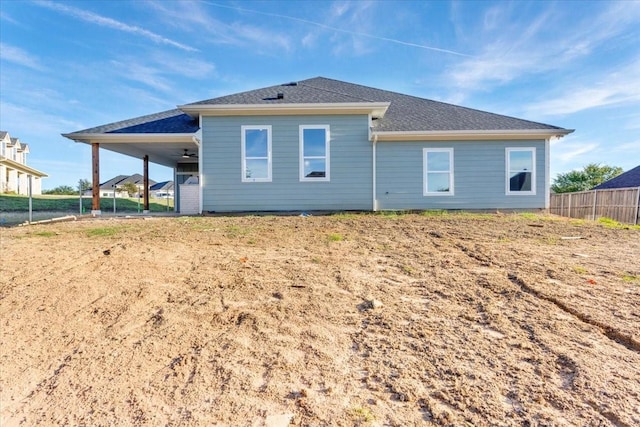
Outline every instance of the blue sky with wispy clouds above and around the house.
<path fill-rule="evenodd" d="M 640 164 L 640 1 L 0 1 L 0 129 L 43 188 L 91 176 L 61 133 L 316 76 L 576 129 L 552 177 Z"/>

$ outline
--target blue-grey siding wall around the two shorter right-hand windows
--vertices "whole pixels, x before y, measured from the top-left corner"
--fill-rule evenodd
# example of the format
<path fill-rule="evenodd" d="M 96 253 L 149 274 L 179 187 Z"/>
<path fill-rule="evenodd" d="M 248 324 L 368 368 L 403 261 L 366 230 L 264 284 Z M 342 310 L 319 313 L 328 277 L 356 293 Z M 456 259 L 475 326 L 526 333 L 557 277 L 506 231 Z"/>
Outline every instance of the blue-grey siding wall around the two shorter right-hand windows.
<path fill-rule="evenodd" d="M 536 148 L 536 194 L 506 195 L 506 147 Z M 453 148 L 453 196 L 423 195 L 423 148 Z M 545 141 L 379 142 L 378 209 L 545 207 Z"/>

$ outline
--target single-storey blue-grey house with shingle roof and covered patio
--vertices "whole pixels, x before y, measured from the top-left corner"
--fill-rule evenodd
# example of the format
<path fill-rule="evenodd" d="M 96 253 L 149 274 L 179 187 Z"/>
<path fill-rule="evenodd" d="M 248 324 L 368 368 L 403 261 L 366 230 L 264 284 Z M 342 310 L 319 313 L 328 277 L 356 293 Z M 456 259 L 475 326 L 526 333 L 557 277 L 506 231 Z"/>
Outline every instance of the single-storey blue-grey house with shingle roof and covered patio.
<path fill-rule="evenodd" d="M 99 147 L 173 168 L 178 211 L 198 177 L 202 213 L 544 209 L 550 141 L 571 132 L 316 77 L 64 136 L 94 174 Z"/>

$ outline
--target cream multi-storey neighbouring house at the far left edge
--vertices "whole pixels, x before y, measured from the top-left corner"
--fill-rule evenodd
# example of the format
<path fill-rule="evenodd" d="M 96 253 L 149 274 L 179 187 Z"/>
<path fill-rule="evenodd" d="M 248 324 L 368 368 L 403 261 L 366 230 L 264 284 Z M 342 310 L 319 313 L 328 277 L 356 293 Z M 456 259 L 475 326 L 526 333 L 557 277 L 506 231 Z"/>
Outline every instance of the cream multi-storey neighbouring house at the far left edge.
<path fill-rule="evenodd" d="M 0 131 L 0 193 L 42 194 L 42 178 L 46 173 L 27 166 L 29 145 L 11 138 L 8 132 Z"/>

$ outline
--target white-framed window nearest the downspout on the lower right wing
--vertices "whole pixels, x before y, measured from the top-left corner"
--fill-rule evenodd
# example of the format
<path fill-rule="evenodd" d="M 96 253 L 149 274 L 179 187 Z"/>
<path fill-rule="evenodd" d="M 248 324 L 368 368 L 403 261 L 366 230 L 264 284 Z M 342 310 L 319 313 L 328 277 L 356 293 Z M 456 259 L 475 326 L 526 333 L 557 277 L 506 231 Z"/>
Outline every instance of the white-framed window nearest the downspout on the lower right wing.
<path fill-rule="evenodd" d="M 424 195 L 453 196 L 453 148 L 423 149 Z"/>

